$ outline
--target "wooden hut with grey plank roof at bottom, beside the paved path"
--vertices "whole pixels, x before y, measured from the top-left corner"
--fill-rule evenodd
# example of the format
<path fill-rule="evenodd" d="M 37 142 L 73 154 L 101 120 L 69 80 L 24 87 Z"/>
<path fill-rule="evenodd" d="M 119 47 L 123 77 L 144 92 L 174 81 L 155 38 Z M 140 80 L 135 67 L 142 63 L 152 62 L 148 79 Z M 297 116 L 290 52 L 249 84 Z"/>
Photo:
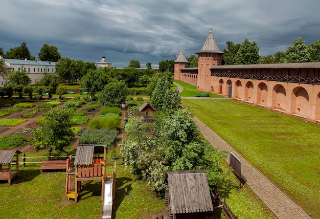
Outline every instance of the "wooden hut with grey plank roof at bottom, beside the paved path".
<path fill-rule="evenodd" d="M 208 170 L 167 171 L 166 205 L 171 218 L 205 218 L 213 211 L 205 172 Z"/>

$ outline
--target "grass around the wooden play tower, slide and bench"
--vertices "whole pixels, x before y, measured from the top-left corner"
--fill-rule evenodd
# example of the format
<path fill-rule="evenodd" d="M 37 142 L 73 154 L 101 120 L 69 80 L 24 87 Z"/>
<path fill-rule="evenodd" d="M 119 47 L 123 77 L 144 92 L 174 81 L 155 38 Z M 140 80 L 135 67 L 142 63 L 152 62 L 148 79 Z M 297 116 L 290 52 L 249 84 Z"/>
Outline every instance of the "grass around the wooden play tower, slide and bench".
<path fill-rule="evenodd" d="M 26 153 L 48 156 L 48 152 Z M 40 162 L 43 158 L 27 159 Z M 65 196 L 65 172 L 41 172 L 39 164 L 19 166 L 12 185 L 0 181 L 0 218 L 101 218 L 101 181 L 83 181 L 80 201 Z M 143 181 L 117 166 L 116 199 L 112 218 L 141 218 L 145 212 L 159 212 L 164 200 L 156 198 Z"/>

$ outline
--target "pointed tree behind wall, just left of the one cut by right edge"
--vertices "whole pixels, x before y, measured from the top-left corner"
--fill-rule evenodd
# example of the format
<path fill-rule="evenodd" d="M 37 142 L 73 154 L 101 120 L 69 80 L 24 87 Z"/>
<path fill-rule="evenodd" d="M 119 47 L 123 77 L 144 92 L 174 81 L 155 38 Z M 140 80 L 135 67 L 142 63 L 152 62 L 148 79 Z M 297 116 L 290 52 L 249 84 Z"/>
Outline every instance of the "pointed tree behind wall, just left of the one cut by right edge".
<path fill-rule="evenodd" d="M 309 51 L 306 43 L 302 40 L 302 37 L 298 37 L 294 40 L 294 45 L 291 45 L 285 51 L 284 62 L 308 62 Z"/>

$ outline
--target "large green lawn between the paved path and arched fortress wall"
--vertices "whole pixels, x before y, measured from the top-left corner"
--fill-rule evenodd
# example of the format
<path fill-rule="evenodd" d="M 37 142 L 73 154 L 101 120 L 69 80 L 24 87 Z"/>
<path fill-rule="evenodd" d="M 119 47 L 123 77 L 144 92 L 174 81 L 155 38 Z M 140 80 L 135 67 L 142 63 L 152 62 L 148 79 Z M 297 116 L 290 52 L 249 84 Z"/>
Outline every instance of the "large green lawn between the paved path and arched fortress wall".
<path fill-rule="evenodd" d="M 181 102 L 311 217 L 320 215 L 320 126 L 235 100 Z"/>

